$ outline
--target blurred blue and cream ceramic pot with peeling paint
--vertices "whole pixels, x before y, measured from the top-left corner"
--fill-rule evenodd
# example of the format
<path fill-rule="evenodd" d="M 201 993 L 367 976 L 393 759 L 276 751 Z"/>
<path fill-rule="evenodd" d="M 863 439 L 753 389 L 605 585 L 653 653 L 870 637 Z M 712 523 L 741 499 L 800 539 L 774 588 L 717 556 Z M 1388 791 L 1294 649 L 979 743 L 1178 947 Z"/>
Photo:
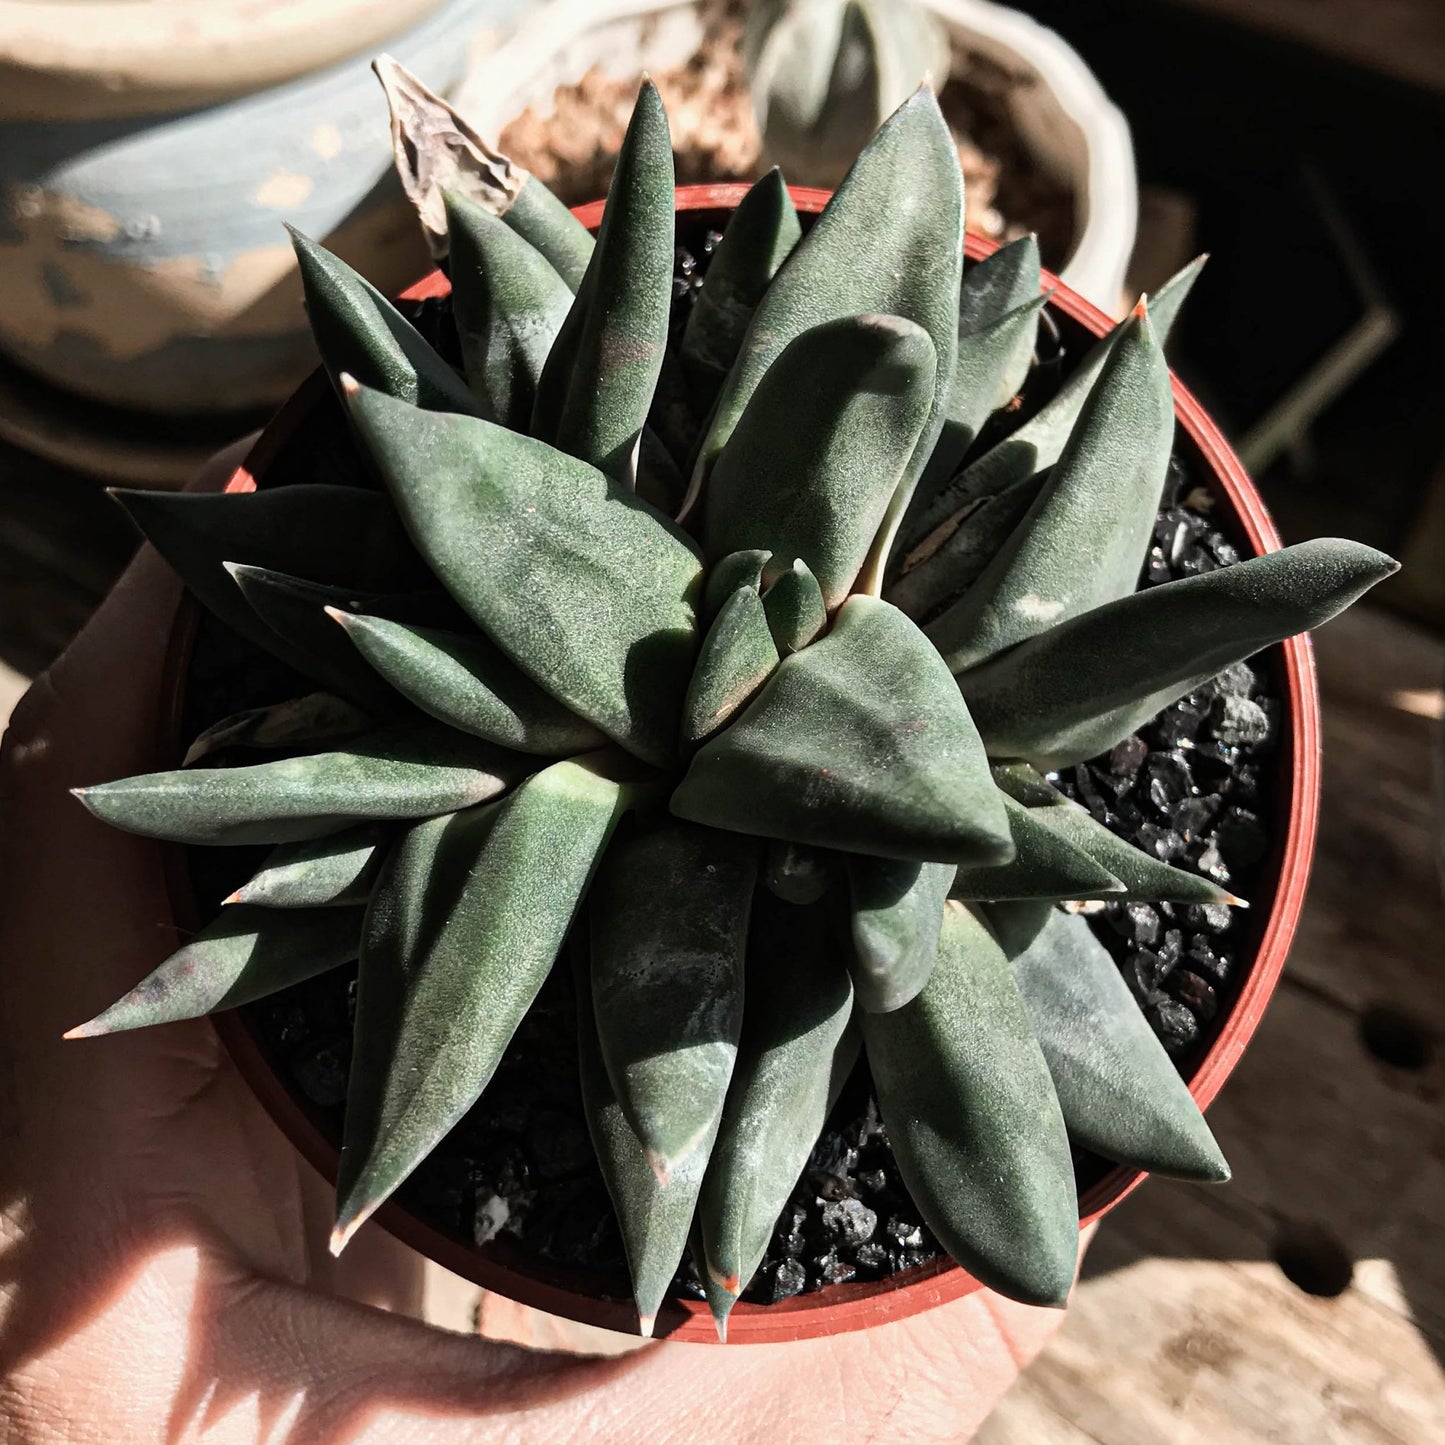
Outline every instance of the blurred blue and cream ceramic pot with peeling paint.
<path fill-rule="evenodd" d="M 428 266 L 370 56 L 449 88 L 520 9 L 0 3 L 0 353 L 113 406 L 282 400 L 314 364 L 283 217 L 383 290 Z"/>

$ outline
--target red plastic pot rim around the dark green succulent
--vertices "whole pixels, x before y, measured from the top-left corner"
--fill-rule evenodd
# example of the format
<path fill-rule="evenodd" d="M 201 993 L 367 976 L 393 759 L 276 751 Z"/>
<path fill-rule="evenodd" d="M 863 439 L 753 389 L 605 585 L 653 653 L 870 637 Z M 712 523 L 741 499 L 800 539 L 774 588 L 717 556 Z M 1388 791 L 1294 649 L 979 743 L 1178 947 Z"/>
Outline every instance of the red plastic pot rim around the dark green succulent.
<path fill-rule="evenodd" d="M 683 186 L 676 194 L 676 208 L 699 223 L 721 227 L 743 197 L 746 186 L 714 185 Z M 827 204 L 822 191 L 792 191 L 802 212 L 818 212 Z M 595 228 L 603 205 L 581 207 L 579 220 Z M 994 243 L 968 237 L 968 256 L 978 260 L 994 250 Z M 1103 335 L 1113 325 L 1090 302 L 1077 296 L 1056 277 L 1046 283 L 1055 288 L 1051 306 L 1094 335 Z M 448 282 L 434 272 L 413 286 L 407 299 L 442 296 Z M 1179 419 L 1176 445 L 1192 454 L 1196 474 L 1214 493 L 1221 520 L 1234 533 L 1237 545 L 1251 553 L 1279 548 L 1279 536 L 1238 458 L 1205 415 L 1199 403 L 1179 383 L 1173 381 L 1175 409 Z M 296 429 L 306 425 L 312 412 L 328 402 L 329 383 L 322 373 L 312 376 L 280 409 L 256 447 L 231 477 L 227 490 L 250 491 L 272 468 L 282 444 Z M 182 604 L 172 637 L 171 683 L 175 705 L 172 720 L 179 720 L 179 702 L 185 691 L 186 669 L 198 610 L 189 598 Z M 1264 1007 L 1279 981 L 1289 952 L 1295 925 L 1299 920 L 1315 847 L 1315 827 L 1319 806 L 1319 694 L 1308 639 L 1296 637 L 1283 643 L 1280 675 L 1285 692 L 1285 725 L 1279 754 L 1279 788 L 1276 814 L 1280 819 L 1274 854 L 1266 868 L 1266 881 L 1253 902 L 1251 962 L 1228 1014 L 1217 1020 L 1212 1038 L 1194 1065 L 1189 1088 L 1201 1107 L 1222 1088 L 1224 1081 L 1240 1062 Z M 179 753 L 178 727 L 165 740 L 172 754 Z M 172 900 L 181 920 L 195 918 L 195 900 L 184 866 L 182 850 L 172 851 Z M 270 1064 L 262 1055 L 240 1014 L 217 1017 L 217 1027 L 237 1066 L 276 1124 L 295 1147 L 328 1179 L 335 1179 L 338 1146 L 298 1101 Z M 1081 1227 L 1101 1218 L 1114 1208 L 1143 1179 L 1137 1169 L 1110 1168 L 1097 1179 L 1081 1181 Z M 600 1298 L 587 1292 L 585 1283 L 568 1272 L 538 1266 L 523 1260 L 504 1241 L 473 1247 L 451 1238 L 400 1205 L 389 1204 L 377 1221 L 397 1238 L 445 1269 L 474 1283 L 494 1290 L 523 1305 L 562 1315 L 604 1329 L 626 1334 L 636 1331 L 636 1314 L 630 1299 Z M 905 1270 L 887 1280 L 863 1285 L 835 1285 L 783 1300 L 777 1305 L 740 1303 L 730 1321 L 733 1342 L 777 1342 L 808 1340 L 819 1335 L 866 1329 L 870 1325 L 931 1309 L 983 1286 L 946 1257 Z M 670 1305 L 657 1319 L 657 1334 L 670 1340 L 714 1342 L 717 1335 L 707 1308 L 691 1300 Z"/>

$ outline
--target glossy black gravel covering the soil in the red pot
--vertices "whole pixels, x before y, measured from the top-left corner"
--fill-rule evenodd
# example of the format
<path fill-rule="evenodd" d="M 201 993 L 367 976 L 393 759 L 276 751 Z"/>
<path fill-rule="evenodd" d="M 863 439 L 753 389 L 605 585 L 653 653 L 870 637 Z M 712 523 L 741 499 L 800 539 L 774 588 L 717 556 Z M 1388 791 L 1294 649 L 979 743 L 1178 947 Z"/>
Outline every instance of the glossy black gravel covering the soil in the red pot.
<path fill-rule="evenodd" d="M 806 220 L 806 218 L 805 218 Z M 702 285 L 715 231 L 695 227 L 676 257 L 673 334 Z M 425 302 L 418 325 L 457 358 L 447 302 Z M 1027 409 L 1066 376 L 1088 338 L 1071 322 L 1040 337 Z M 1072 353 L 1072 355 L 1071 355 Z M 1042 394 L 1040 394 L 1042 393 Z M 1009 426 L 1017 425 L 1017 413 Z M 990 436 L 980 445 L 988 445 Z M 270 478 L 371 486 L 329 397 L 282 449 Z M 269 481 L 270 481 L 269 478 Z M 1192 460 L 1170 464 L 1142 587 L 1228 566 L 1240 539 L 1214 516 Z M 198 624 L 184 705 L 186 740 L 243 707 L 309 691 L 305 679 L 259 653 L 223 623 Z M 1066 770 L 1058 786 L 1139 847 L 1256 897 L 1272 850 L 1280 727 L 1277 649 L 1240 663 L 1162 712 L 1110 754 Z M 220 757 L 218 762 L 254 762 Z M 264 848 L 191 848 L 201 919 L 259 866 Z M 1169 903 L 1085 906 L 1165 1046 L 1186 1069 L 1233 1003 L 1247 964 L 1251 913 Z M 1259 922 L 1253 920 L 1257 932 Z M 324 1133 L 341 1137 L 355 967 L 322 974 L 244 1010 L 253 1035 Z M 1079 1188 L 1108 1169 L 1075 1153 Z M 594 1293 L 630 1298 L 621 1237 L 592 1156 L 577 1074 L 577 1026 L 566 951 L 517 1030 L 481 1101 L 438 1146 L 397 1201 L 435 1228 L 483 1247 L 499 1263 L 558 1277 Z M 887 1277 L 941 1253 L 899 1178 L 867 1065 L 844 1088 L 763 1266 L 744 1299 L 776 1302 L 848 1280 Z M 691 1261 L 675 1282 L 701 1299 Z"/>

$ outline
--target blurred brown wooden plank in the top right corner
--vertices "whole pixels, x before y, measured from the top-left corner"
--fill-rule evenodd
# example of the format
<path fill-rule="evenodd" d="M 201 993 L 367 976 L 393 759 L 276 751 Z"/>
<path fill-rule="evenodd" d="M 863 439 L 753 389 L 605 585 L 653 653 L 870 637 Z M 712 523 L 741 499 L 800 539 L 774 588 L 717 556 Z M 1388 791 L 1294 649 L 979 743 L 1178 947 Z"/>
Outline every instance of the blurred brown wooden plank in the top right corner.
<path fill-rule="evenodd" d="M 1396 79 L 1445 91 L 1439 0 L 1175 0 L 1298 40 Z"/>

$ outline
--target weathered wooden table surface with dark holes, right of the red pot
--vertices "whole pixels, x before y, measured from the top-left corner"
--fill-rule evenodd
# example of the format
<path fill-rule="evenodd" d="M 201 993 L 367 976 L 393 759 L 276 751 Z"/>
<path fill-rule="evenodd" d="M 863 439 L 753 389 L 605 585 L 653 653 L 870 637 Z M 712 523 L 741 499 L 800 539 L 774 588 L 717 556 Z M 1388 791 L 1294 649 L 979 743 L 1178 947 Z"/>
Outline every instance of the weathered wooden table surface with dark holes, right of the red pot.
<path fill-rule="evenodd" d="M 1209 1114 L 1234 1181 L 1150 1181 L 1105 1221 L 984 1445 L 1445 1441 L 1445 646 L 1360 608 L 1316 650 L 1321 851 Z"/>

